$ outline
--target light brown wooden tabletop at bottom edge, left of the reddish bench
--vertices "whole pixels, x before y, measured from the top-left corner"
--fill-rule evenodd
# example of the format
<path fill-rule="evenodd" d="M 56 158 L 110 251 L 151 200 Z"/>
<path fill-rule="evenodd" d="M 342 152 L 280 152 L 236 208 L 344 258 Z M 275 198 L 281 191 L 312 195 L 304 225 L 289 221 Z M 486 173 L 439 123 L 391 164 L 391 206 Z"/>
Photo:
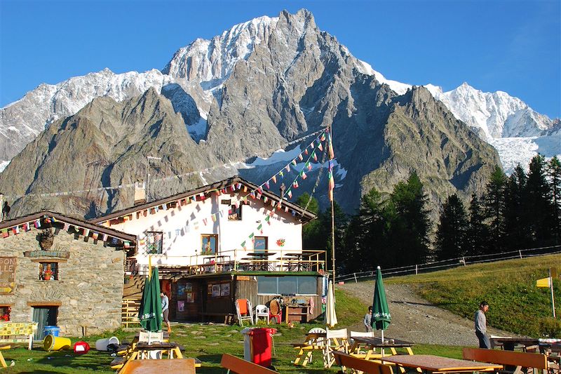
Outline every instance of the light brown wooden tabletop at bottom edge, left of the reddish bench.
<path fill-rule="evenodd" d="M 494 363 L 450 359 L 433 354 L 398 354 L 384 358 L 384 361 L 395 363 L 403 368 L 416 370 L 421 368 L 424 373 L 470 373 L 472 371 L 494 371 L 503 368 Z"/>

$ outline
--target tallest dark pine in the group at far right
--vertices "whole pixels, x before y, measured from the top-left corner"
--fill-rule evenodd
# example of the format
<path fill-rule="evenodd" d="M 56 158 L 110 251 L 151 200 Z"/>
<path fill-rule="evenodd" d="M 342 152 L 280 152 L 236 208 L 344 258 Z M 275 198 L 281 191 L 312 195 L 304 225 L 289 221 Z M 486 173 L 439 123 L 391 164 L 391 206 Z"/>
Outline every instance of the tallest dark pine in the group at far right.
<path fill-rule="evenodd" d="M 548 246 L 553 238 L 553 204 L 546 180 L 546 159 L 536 154 L 529 164 L 527 214 L 529 234 L 534 246 Z"/>

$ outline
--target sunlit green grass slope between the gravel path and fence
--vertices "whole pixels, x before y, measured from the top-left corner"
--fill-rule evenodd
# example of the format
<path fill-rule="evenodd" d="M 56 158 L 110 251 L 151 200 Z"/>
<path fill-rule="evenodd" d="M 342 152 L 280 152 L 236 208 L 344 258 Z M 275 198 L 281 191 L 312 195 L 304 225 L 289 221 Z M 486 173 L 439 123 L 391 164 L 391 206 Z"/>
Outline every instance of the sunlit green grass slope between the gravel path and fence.
<path fill-rule="evenodd" d="M 553 319 L 549 288 L 536 287 L 536 279 L 546 278 L 550 267 L 561 274 L 561 255 L 468 265 L 384 281 L 412 284 L 421 297 L 470 319 L 474 306 L 487 300 L 489 326 L 535 338 L 561 338 L 561 281 L 553 282 L 557 319 Z"/>

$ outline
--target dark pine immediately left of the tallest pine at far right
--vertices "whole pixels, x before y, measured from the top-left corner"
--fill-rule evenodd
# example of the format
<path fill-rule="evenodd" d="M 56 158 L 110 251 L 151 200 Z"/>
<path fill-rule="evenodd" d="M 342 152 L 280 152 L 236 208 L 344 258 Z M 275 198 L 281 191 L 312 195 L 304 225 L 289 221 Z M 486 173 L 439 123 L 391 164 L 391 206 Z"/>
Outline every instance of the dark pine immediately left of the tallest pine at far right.
<path fill-rule="evenodd" d="M 527 176 L 520 164 L 506 182 L 505 232 L 506 248 L 528 248 L 531 243 L 527 206 Z"/>

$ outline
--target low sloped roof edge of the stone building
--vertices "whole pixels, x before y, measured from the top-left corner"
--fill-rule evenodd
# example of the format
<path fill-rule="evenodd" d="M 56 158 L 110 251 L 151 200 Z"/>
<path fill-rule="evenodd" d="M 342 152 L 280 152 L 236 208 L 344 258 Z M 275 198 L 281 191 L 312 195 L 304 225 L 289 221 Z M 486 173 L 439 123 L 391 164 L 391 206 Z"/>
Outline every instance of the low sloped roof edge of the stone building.
<path fill-rule="evenodd" d="M 93 232 L 97 232 L 100 234 L 107 234 L 108 236 L 121 239 L 123 241 L 131 241 L 136 243 L 136 235 L 126 234 L 125 232 L 121 232 L 116 229 L 111 229 L 109 227 L 104 227 L 101 225 L 97 225 L 94 222 L 88 222 L 85 220 L 80 220 L 79 218 L 72 218 L 67 215 L 63 215 L 62 213 L 57 213 L 53 211 L 39 211 L 36 213 L 23 215 L 18 218 L 14 218 L 13 220 L 7 220 L 4 222 L 0 222 L 0 229 L 6 229 L 10 227 L 16 227 L 19 225 L 23 225 L 27 222 L 32 222 L 34 220 L 40 220 L 41 218 L 55 218 L 60 222 L 68 223 L 69 225 L 74 225 L 78 227 L 82 227 L 83 229 L 90 229 Z"/>

